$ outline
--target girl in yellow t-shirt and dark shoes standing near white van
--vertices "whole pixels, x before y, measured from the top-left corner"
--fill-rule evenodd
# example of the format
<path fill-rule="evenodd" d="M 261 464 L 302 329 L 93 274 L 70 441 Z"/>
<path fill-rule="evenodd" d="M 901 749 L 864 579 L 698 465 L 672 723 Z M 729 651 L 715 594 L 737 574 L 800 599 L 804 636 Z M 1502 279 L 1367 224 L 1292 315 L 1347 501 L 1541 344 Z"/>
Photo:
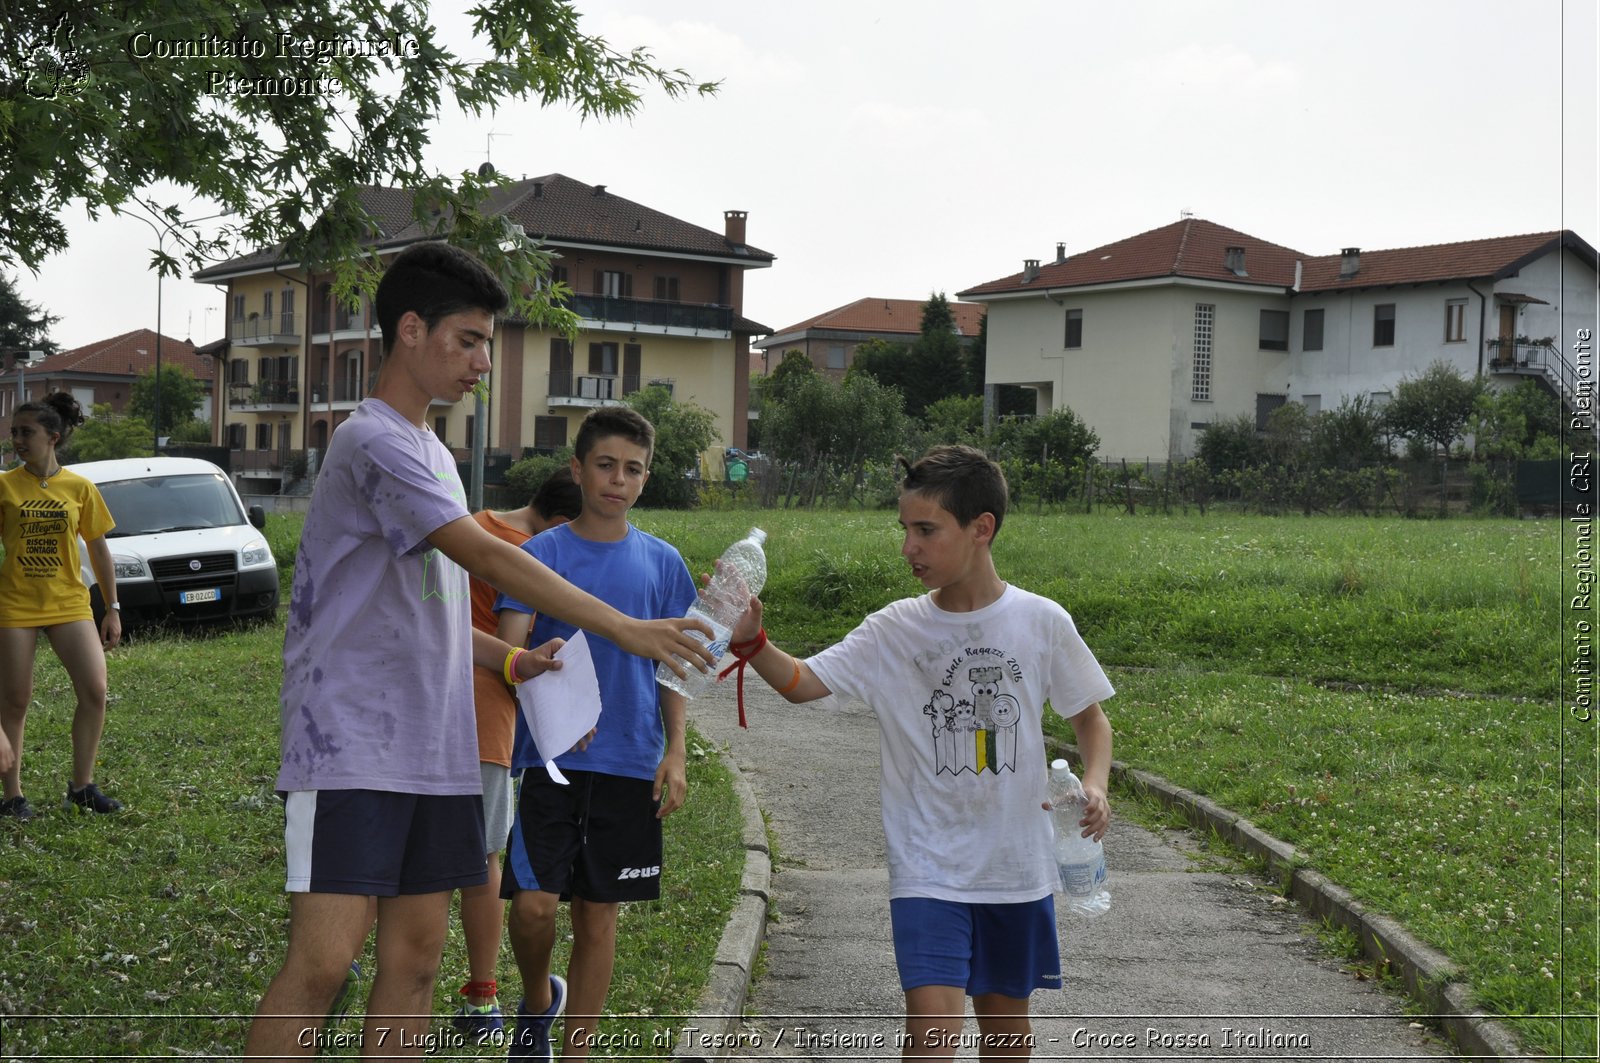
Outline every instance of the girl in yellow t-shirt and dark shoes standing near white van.
<path fill-rule="evenodd" d="M 117 812 L 94 784 L 94 757 L 106 727 L 106 650 L 122 640 L 117 580 L 106 533 L 114 523 L 99 490 L 61 467 L 56 447 L 83 424 L 83 410 L 61 391 L 18 407 L 11 447 L 21 464 L 0 472 L 0 816 L 32 820 L 22 796 L 22 727 L 34 696 L 38 632 L 50 639 L 72 679 L 72 780 L 62 807 Z M 78 538 L 106 599 L 106 620 L 94 629 L 90 589 L 78 575 Z"/>

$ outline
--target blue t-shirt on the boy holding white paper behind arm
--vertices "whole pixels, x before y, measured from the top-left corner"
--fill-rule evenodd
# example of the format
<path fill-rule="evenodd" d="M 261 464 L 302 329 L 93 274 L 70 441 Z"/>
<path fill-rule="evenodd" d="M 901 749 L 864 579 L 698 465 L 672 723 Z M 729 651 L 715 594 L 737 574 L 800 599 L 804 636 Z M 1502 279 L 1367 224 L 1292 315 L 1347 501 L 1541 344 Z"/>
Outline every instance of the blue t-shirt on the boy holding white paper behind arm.
<path fill-rule="evenodd" d="M 560 525 L 528 540 L 522 549 L 573 586 L 637 620 L 682 616 L 694 602 L 694 580 L 678 551 L 632 525 L 616 543 L 595 543 L 576 535 L 570 525 Z M 494 602 L 494 608 L 534 612 L 504 594 Z M 530 645 L 571 639 L 574 631 L 571 624 L 539 613 L 533 621 Z M 563 772 L 603 772 L 653 780 L 667 748 L 656 692 L 656 663 L 627 653 L 594 632 L 587 639 L 600 680 L 600 724 L 589 749 L 563 752 L 555 757 L 555 764 Z M 518 712 L 512 770 L 542 765 L 546 760 Z"/>

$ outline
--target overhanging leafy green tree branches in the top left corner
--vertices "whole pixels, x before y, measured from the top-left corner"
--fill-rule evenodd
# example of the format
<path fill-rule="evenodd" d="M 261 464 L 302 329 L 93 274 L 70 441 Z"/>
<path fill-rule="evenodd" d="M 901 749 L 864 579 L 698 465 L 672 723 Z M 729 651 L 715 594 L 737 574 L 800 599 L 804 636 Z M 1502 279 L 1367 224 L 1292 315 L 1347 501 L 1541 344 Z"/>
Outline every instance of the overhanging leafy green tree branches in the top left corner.
<path fill-rule="evenodd" d="M 357 191 L 414 192 L 414 219 L 475 251 L 512 290 L 514 312 L 570 328 L 552 306 L 549 256 L 480 210 L 493 174 L 426 158 L 440 117 L 506 101 L 634 114 L 643 91 L 710 93 L 643 48 L 582 32 L 565 0 L 482 0 L 454 53 L 427 0 L 146 0 L 6 5 L 0 27 L 0 263 L 37 269 L 67 247 L 59 218 L 82 200 L 149 216 L 174 237 L 154 263 L 176 274 L 234 247 L 282 248 L 331 267 L 349 298 L 370 287 L 366 242 L 382 231 Z M 198 56 L 171 43 L 216 42 Z M 322 46 L 346 45 L 350 46 Z M 221 237 L 182 218 L 173 191 L 232 211 Z M 557 293 L 558 295 L 558 293 Z"/>

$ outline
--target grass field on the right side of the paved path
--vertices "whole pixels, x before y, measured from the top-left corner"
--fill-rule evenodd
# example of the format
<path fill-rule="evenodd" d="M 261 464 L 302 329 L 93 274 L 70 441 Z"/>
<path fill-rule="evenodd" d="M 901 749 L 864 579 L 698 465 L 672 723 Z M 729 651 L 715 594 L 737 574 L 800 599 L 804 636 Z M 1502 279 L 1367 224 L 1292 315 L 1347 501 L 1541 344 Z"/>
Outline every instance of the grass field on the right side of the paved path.
<path fill-rule="evenodd" d="M 643 523 L 709 565 L 754 519 L 784 647 L 920 592 L 888 512 Z M 1530 1049 L 1589 1058 L 1597 740 L 1558 703 L 1560 549 L 1555 520 L 1013 514 L 995 562 L 1107 664 L 1118 759 L 1398 917 Z"/>

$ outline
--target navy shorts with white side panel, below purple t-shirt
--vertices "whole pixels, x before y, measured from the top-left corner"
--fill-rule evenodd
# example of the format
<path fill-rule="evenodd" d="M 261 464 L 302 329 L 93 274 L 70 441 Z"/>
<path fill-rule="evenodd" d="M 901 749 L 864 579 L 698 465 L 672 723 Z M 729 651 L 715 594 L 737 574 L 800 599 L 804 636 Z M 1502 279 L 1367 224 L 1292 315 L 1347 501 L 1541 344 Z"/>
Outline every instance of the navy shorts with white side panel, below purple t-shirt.
<path fill-rule="evenodd" d="M 283 812 L 290 893 L 443 893 L 490 876 L 480 794 L 296 789 Z"/>

